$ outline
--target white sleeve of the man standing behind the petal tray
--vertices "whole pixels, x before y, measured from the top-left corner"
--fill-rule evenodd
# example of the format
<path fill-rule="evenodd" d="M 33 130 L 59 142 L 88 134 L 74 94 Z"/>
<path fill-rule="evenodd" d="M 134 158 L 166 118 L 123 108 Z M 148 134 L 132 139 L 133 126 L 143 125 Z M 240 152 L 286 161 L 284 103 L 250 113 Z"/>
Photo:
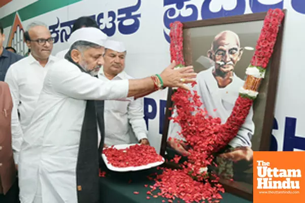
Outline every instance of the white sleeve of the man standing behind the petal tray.
<path fill-rule="evenodd" d="M 147 139 L 147 129 L 144 120 L 143 98 L 133 100 L 128 105 L 128 120 L 138 141 Z"/>

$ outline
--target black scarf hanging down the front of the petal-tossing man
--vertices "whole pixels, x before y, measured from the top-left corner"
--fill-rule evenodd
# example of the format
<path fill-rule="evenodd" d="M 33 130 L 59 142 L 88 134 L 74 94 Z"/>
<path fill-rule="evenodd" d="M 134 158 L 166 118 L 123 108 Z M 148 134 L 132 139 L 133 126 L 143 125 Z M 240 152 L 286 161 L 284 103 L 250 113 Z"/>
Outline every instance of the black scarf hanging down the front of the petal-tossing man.
<path fill-rule="evenodd" d="M 65 55 L 65 59 L 85 72 L 80 65 L 72 60 L 71 51 Z M 99 149 L 97 121 L 101 132 Z M 76 165 L 78 203 L 99 203 L 99 160 L 104 146 L 104 137 L 104 100 L 87 100 Z"/>

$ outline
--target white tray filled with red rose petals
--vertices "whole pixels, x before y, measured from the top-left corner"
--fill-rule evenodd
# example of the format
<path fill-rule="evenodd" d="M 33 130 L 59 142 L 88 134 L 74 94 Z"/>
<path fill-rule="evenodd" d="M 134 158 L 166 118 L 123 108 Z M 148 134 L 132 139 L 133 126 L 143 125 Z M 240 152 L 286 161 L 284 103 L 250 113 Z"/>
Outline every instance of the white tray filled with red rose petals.
<path fill-rule="evenodd" d="M 154 147 L 140 144 L 113 145 L 103 149 L 102 158 L 109 170 L 140 171 L 165 162 Z"/>

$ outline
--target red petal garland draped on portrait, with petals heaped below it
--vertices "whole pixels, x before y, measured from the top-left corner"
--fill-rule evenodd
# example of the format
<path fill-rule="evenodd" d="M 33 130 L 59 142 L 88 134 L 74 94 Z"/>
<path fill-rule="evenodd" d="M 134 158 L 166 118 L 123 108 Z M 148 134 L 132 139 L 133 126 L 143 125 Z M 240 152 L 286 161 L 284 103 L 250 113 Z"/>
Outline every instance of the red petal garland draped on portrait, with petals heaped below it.
<path fill-rule="evenodd" d="M 282 10 L 270 9 L 264 19 L 256 51 L 251 60 L 251 66 L 255 66 L 262 72 L 266 69 L 272 55 L 279 25 L 283 17 L 284 13 Z M 175 60 L 178 67 L 183 66 L 185 62 L 182 54 L 182 23 L 176 21 L 170 26 L 171 61 Z M 252 86 L 257 87 L 259 85 Z M 257 89 L 250 90 L 256 91 Z M 203 199 L 207 199 L 210 202 L 212 199 L 220 199 L 221 196 L 218 192 L 223 191 L 223 188 L 220 184 L 216 183 L 217 179 L 211 181 L 215 182 L 214 186 L 211 185 L 208 179 L 206 179 L 206 172 L 201 170 L 203 167 L 211 164 L 214 159 L 212 154 L 226 147 L 235 138 L 240 126 L 245 122 L 249 114 L 254 98 L 240 93 L 230 117 L 226 123 L 221 124 L 220 118 L 213 118 L 207 114 L 206 110 L 200 109 L 202 103 L 196 91 L 192 94 L 190 91 L 178 88 L 172 95 L 172 101 L 178 115 L 170 119 L 173 119 L 174 122 L 180 125 L 180 134 L 192 147 L 189 150 L 191 154 L 188 156 L 189 161 L 182 165 L 183 170 L 165 169 L 162 175 L 157 176 L 153 190 L 159 187 L 161 189 L 159 195 L 167 198 L 179 197 L 187 202 L 199 202 Z M 178 159 L 178 157 L 175 157 L 173 161 L 177 162 Z M 205 181 L 205 183 L 191 180 L 189 175 L 196 177 L 198 181 Z M 188 189 L 184 188 L 185 185 L 189 186 Z M 196 188 L 196 190 L 191 188 Z"/>

